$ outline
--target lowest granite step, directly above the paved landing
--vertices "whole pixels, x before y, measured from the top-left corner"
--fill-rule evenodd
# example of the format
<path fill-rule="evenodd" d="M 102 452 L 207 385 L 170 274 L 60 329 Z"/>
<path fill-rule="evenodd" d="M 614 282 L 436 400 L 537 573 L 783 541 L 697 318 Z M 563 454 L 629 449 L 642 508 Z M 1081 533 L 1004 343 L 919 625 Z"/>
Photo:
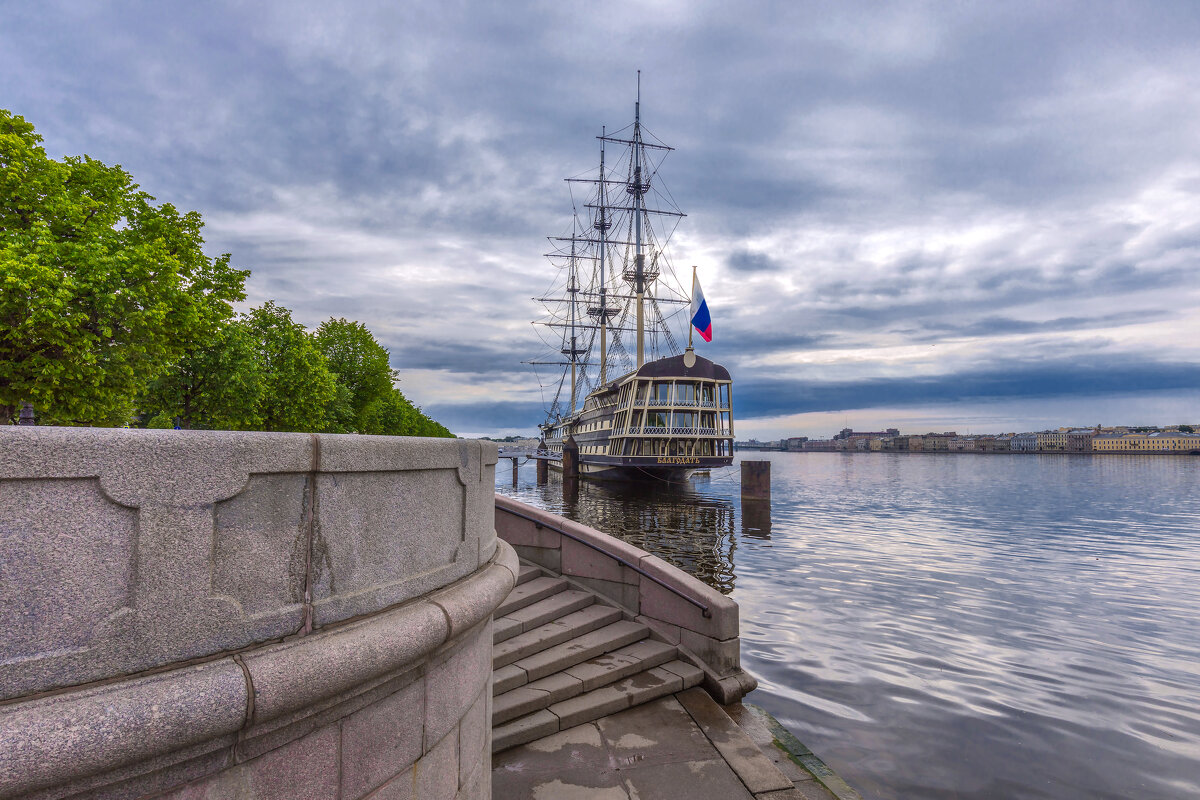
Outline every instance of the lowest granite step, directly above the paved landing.
<path fill-rule="evenodd" d="M 668 661 L 660 667 L 559 700 L 548 708 L 518 716 L 502 724 L 496 724 L 493 716 L 492 752 L 498 753 L 509 747 L 516 747 L 552 733 L 599 720 L 634 705 L 680 692 L 696 686 L 703 678 L 704 673 L 698 667 L 678 660 Z"/>

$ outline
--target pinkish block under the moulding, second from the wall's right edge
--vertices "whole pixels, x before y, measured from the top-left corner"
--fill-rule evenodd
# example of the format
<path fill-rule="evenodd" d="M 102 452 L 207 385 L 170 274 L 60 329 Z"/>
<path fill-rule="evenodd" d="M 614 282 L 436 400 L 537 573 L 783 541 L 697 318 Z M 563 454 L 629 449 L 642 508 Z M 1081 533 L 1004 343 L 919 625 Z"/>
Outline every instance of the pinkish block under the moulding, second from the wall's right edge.
<path fill-rule="evenodd" d="M 421 757 L 425 681 L 342 721 L 342 796 L 362 798 Z"/>

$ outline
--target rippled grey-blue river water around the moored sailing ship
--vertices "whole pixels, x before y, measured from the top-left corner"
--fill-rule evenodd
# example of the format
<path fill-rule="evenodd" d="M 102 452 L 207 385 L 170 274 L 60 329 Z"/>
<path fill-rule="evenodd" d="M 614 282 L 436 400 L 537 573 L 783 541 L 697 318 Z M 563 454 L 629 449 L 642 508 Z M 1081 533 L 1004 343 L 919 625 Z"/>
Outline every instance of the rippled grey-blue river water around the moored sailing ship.
<path fill-rule="evenodd" d="M 497 491 L 742 606 L 767 708 L 869 799 L 1200 798 L 1200 458 L 744 453 L 689 486 Z"/>

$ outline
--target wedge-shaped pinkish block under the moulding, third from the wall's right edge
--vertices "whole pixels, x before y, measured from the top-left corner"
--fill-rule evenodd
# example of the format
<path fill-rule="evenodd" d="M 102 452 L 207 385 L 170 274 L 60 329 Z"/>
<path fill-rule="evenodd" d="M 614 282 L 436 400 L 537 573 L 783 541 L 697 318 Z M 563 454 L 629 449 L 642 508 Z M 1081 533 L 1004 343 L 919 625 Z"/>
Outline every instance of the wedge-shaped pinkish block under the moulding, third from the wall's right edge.
<path fill-rule="evenodd" d="M 160 795 L 160 800 L 328 800 L 337 796 L 338 726 Z"/>

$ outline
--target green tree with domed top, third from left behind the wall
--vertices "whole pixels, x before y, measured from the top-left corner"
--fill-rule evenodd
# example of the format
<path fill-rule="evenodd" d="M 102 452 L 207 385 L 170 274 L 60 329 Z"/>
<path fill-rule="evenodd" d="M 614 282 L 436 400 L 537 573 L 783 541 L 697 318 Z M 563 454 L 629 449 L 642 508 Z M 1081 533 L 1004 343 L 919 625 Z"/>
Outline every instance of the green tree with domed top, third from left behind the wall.
<path fill-rule="evenodd" d="M 292 312 L 268 301 L 246 317 L 262 369 L 263 391 L 256 413 L 263 431 L 324 431 L 337 380 L 325 366 L 304 325 Z"/>

